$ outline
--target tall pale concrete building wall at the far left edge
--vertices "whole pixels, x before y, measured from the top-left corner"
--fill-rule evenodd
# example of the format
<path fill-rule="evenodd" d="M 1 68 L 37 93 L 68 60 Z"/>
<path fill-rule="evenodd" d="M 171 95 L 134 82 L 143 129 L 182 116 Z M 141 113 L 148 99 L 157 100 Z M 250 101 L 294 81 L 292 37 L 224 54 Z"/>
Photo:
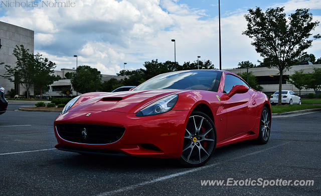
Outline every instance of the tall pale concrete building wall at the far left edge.
<path fill-rule="evenodd" d="M 34 53 L 33 30 L 0 21 L 0 39 L 2 44 L 0 48 L 0 62 L 4 62 L 4 64 L 0 65 L 0 75 L 5 74 L 6 64 L 11 66 L 16 65 L 17 59 L 13 55 L 13 49 L 16 45 L 23 44 L 25 48 L 29 49 L 29 52 Z M 6 94 L 8 90 L 15 88 L 15 84 L 4 77 L 0 77 L 0 86 L 5 88 Z M 25 91 L 26 89 L 20 85 L 19 94 L 23 95 Z M 30 89 L 30 92 L 33 95 L 34 90 Z"/>

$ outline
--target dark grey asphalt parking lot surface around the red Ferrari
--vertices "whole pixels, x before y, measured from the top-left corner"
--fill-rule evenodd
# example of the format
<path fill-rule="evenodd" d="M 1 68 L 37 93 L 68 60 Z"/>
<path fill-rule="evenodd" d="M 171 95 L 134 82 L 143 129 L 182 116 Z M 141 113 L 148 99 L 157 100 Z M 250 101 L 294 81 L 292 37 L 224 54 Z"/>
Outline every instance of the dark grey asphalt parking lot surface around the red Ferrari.
<path fill-rule="evenodd" d="M 0 115 L 0 195 L 320 195 L 321 112 L 273 117 L 266 145 L 216 149 L 203 167 L 175 160 L 86 156 L 54 149 L 58 113 Z M 201 180 L 312 179 L 313 186 L 202 186 Z"/>

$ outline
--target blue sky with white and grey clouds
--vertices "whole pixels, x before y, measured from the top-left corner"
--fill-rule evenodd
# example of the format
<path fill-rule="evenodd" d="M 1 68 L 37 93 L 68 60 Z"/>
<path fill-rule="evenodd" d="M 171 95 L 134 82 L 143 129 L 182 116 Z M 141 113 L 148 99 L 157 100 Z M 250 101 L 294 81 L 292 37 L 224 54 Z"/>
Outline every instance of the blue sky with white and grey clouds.
<path fill-rule="evenodd" d="M 56 62 L 57 69 L 75 67 L 74 54 L 78 64 L 104 74 L 116 74 L 123 62 L 127 69 L 136 69 L 151 59 L 174 61 L 171 39 L 176 39 L 179 63 L 200 55 L 219 67 L 218 0 L 69 0 L 70 7 L 54 7 L 47 0 L 16 0 L 20 6 L 8 5 L 14 1 L 0 1 L 0 20 L 34 30 L 35 52 Z M 223 69 L 261 59 L 251 39 L 242 35 L 244 14 L 255 6 L 264 10 L 285 6 L 287 13 L 310 8 L 313 18 L 321 21 L 321 0 L 221 0 Z M 317 33 L 321 25 L 313 31 Z M 321 57 L 321 40 L 307 52 Z"/>

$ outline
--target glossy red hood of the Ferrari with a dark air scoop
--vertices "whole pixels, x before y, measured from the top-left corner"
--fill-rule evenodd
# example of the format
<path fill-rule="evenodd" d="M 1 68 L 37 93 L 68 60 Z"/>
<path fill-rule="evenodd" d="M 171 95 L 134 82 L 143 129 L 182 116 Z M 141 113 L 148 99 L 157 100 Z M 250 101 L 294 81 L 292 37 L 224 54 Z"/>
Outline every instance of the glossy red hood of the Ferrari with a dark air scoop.
<path fill-rule="evenodd" d="M 117 111 L 136 113 L 148 104 L 168 96 L 182 92 L 177 89 L 132 90 L 104 93 L 78 103 L 69 111 Z"/>

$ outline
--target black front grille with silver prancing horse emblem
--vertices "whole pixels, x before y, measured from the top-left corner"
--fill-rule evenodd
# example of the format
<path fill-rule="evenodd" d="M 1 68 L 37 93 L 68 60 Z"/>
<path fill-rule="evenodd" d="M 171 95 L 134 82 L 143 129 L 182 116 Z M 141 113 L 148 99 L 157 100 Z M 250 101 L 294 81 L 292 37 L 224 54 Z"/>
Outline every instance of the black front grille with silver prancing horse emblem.
<path fill-rule="evenodd" d="M 124 127 L 98 124 L 56 124 L 59 136 L 67 141 L 89 144 L 107 144 L 119 140 Z"/>

